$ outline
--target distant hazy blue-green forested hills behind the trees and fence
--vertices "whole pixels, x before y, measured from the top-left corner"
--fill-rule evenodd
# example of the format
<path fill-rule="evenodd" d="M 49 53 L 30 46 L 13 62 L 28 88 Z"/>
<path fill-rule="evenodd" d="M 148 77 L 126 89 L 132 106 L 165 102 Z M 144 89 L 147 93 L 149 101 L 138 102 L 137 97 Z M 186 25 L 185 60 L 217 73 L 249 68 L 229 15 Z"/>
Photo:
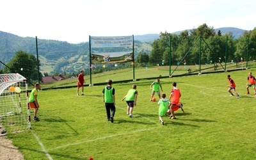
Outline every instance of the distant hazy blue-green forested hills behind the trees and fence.
<path fill-rule="evenodd" d="M 188 29 L 190 31 L 191 29 Z M 221 31 L 222 35 L 232 32 L 234 38 L 242 36 L 244 31 L 239 28 L 217 28 L 216 32 Z M 182 31 L 172 34 L 179 35 Z M 151 44 L 159 38 L 159 34 L 134 35 L 135 57 L 138 52 L 150 54 Z M 20 37 L 12 33 L 0 31 L 0 68 L 8 63 L 15 52 L 22 50 L 36 55 L 36 38 Z M 68 71 L 78 70 L 81 66 L 88 68 L 89 43 L 69 44 L 58 40 L 44 40 L 38 38 L 38 56 L 41 62 L 41 72 L 58 72 L 63 64 L 67 65 Z M 4 64 L 3 64 L 4 63 Z M 55 70 L 55 71 L 54 71 Z"/>

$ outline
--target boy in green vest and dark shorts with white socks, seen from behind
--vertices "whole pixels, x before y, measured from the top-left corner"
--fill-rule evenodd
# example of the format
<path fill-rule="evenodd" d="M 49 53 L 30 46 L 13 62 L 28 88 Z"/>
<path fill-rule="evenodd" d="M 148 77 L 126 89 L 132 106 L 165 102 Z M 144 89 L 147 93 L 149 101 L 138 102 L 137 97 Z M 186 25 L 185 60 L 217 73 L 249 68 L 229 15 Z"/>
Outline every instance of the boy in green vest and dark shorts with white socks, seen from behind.
<path fill-rule="evenodd" d="M 125 99 L 127 103 L 127 115 L 129 115 L 130 118 L 132 118 L 133 107 L 136 106 L 138 96 L 138 91 L 136 90 L 136 88 L 136 84 L 133 84 L 132 89 L 130 89 L 127 95 L 125 95 L 125 97 L 122 99 L 122 101 Z"/>

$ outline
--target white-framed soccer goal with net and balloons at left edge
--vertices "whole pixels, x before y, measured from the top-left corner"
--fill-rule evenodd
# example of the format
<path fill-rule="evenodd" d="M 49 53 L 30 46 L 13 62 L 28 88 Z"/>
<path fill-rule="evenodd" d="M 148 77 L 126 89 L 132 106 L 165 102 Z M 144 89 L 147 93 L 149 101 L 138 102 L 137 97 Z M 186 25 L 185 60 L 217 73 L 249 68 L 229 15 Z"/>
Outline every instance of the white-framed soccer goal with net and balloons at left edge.
<path fill-rule="evenodd" d="M 27 79 L 0 74 L 0 136 L 27 129 L 31 129 Z"/>

